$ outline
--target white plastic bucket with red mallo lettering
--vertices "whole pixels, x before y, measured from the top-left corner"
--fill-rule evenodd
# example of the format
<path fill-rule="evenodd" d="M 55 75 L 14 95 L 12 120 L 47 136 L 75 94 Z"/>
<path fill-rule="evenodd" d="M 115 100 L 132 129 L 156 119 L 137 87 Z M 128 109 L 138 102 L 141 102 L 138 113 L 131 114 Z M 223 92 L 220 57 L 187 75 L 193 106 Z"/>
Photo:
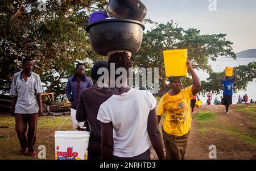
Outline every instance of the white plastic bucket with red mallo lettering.
<path fill-rule="evenodd" d="M 89 132 L 55 131 L 56 160 L 87 160 Z"/>

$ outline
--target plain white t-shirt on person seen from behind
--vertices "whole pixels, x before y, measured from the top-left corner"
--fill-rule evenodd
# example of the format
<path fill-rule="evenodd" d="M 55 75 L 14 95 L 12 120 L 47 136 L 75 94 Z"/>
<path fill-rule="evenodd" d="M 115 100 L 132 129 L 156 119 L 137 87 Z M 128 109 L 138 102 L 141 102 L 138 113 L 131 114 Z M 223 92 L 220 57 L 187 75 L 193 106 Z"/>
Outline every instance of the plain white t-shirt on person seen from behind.
<path fill-rule="evenodd" d="M 101 104 L 97 119 L 113 124 L 114 156 L 134 157 L 150 148 L 147 120 L 155 105 L 156 99 L 149 91 L 136 89 L 112 95 Z"/>

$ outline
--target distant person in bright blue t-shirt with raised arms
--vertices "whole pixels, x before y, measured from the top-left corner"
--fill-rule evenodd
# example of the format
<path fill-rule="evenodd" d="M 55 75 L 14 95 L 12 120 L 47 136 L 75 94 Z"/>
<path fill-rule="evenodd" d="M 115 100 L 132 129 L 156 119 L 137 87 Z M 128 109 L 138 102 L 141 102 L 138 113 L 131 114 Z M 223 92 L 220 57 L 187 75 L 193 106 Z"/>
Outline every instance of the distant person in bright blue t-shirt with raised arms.
<path fill-rule="evenodd" d="M 233 82 L 237 78 L 236 74 L 236 68 L 233 68 L 233 77 L 228 77 L 224 75 L 221 77 L 221 84 L 224 85 L 224 90 L 223 90 L 223 97 L 224 97 L 224 104 L 226 107 L 226 114 L 229 114 L 229 105 L 232 103 L 232 95 L 233 95 Z M 224 78 L 225 77 L 225 78 Z"/>

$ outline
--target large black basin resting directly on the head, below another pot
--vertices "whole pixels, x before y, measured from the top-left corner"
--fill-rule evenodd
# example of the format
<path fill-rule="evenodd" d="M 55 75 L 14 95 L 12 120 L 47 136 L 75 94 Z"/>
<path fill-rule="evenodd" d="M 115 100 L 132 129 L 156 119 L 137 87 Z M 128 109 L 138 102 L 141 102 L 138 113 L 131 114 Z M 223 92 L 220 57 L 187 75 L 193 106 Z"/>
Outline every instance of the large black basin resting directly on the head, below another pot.
<path fill-rule="evenodd" d="M 86 27 L 93 50 L 104 56 L 117 49 L 138 52 L 144 29 L 141 22 L 131 19 L 98 20 Z"/>

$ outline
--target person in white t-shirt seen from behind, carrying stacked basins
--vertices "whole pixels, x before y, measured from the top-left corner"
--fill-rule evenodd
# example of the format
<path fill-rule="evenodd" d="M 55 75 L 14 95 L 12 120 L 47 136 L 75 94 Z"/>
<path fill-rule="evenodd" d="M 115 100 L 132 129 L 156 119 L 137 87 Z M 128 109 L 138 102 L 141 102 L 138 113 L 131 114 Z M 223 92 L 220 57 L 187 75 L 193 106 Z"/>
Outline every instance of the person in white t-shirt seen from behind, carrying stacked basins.
<path fill-rule="evenodd" d="M 158 158 L 164 159 L 162 137 L 156 119 L 156 99 L 147 90 L 128 87 L 128 70 L 132 66 L 128 53 L 112 53 L 108 63 L 109 74 L 114 76 L 110 77 L 110 85 L 114 85 L 122 94 L 113 95 L 98 110 L 102 159 L 149 160 L 150 141 Z M 116 69 L 121 69 L 122 74 L 116 74 Z M 111 73 L 112 70 L 114 73 Z M 120 76 L 121 80 L 118 79 Z"/>

